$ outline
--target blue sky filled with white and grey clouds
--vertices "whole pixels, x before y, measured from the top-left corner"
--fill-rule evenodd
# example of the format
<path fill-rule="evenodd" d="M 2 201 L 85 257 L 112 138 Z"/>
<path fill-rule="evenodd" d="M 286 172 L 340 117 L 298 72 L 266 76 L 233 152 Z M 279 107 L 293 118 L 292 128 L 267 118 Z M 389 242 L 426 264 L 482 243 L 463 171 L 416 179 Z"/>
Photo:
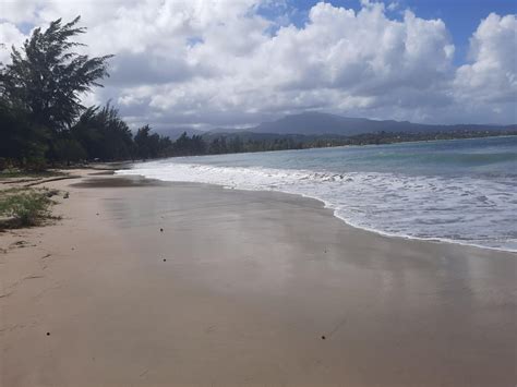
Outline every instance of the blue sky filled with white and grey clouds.
<path fill-rule="evenodd" d="M 0 61 L 81 15 L 132 128 L 250 126 L 303 111 L 517 122 L 515 0 L 0 0 Z"/>

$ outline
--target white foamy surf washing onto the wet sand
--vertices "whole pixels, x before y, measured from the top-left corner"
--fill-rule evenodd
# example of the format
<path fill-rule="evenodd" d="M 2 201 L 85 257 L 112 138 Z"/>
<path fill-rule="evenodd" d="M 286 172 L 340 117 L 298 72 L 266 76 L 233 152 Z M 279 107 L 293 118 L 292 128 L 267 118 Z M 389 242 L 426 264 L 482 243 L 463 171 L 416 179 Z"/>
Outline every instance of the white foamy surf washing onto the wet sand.
<path fill-rule="evenodd" d="M 347 223 L 386 235 L 517 251 L 515 181 L 402 173 L 334 173 L 175 161 L 136 164 L 119 174 L 316 198 Z"/>

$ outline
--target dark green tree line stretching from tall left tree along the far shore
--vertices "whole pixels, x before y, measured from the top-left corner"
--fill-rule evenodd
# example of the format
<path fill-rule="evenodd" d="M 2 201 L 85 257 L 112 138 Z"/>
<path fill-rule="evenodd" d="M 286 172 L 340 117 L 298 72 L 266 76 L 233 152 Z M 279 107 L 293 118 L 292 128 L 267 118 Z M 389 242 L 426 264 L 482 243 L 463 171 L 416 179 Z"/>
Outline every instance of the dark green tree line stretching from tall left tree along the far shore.
<path fill-rule="evenodd" d="M 41 170 L 48 165 L 84 160 L 128 160 L 167 156 L 301 149 L 404 141 L 517 134 L 515 131 L 444 133 L 372 133 L 356 136 L 279 135 L 250 132 L 188 136 L 175 142 L 148 125 L 131 132 L 109 102 L 84 107 L 81 97 L 101 87 L 111 56 L 74 52 L 73 37 L 84 34 L 80 17 L 36 28 L 23 47 L 12 49 L 11 63 L 0 63 L 0 170 Z"/>

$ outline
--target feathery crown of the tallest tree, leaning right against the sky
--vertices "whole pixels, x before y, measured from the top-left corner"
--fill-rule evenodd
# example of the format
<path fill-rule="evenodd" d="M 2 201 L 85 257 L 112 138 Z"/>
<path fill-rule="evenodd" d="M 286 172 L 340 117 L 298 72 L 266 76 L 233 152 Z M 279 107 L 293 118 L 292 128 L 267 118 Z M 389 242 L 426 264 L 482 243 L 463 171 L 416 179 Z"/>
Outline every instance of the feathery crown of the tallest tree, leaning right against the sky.
<path fill-rule="evenodd" d="M 55 133 L 70 128 L 84 110 L 82 94 L 109 76 L 107 60 L 112 56 L 91 58 L 73 50 L 84 46 L 72 40 L 86 32 L 76 26 L 79 21 L 62 24 L 58 19 L 44 32 L 34 29 L 21 49 L 12 48 L 11 63 L 1 72 L 2 100 Z"/>

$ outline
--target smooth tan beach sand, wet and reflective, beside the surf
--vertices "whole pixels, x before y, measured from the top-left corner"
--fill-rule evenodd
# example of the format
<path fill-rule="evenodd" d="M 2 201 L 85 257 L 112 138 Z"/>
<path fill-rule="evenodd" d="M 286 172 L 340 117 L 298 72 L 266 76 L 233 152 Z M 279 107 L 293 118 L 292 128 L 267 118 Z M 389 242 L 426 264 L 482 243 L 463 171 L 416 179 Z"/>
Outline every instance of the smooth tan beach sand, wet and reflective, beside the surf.
<path fill-rule="evenodd" d="M 517 384 L 517 254 L 287 194 L 48 185 L 63 219 L 0 234 L 1 386 Z"/>

